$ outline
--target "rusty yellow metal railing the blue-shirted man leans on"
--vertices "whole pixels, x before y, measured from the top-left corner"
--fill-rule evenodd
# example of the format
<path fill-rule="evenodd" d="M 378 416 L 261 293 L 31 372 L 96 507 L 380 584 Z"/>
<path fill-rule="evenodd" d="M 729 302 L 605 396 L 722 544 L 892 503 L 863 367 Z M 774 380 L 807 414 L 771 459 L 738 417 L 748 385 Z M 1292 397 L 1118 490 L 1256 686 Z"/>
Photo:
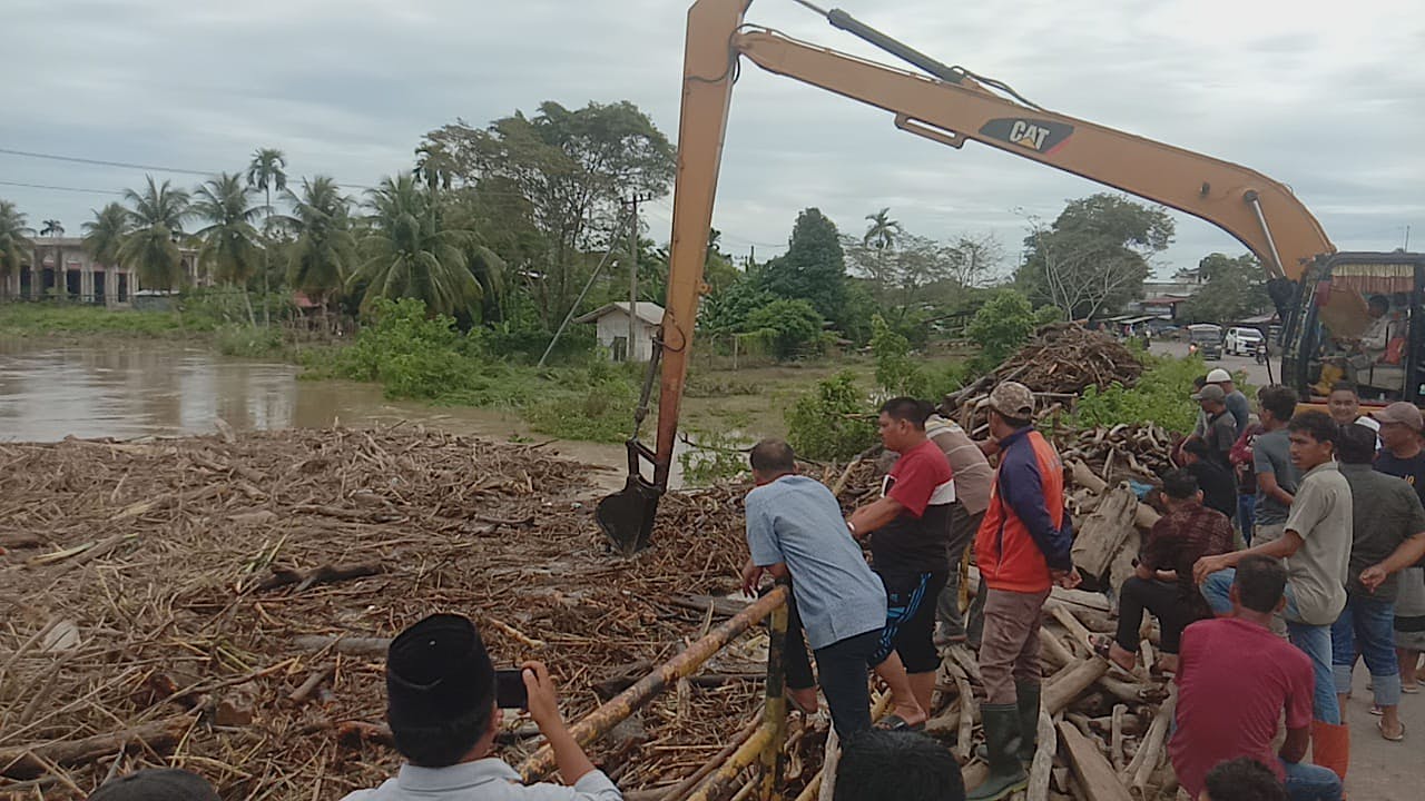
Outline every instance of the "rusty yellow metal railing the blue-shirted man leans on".
<path fill-rule="evenodd" d="M 714 654 L 761 620 L 767 620 L 770 641 L 767 647 L 767 687 L 762 703 L 762 721 L 757 730 L 695 787 L 688 788 L 687 801 L 711 801 L 721 797 L 754 763 L 761 764 L 758 798 L 775 801 L 782 790 L 782 747 L 787 740 L 787 697 L 785 650 L 787 650 L 787 584 L 779 583 L 755 603 L 737 613 L 725 623 L 712 629 L 701 640 L 684 648 L 678 656 L 653 668 L 631 687 L 610 698 L 597 710 L 589 713 L 570 727 L 570 734 L 580 747 L 597 743 L 616 725 L 646 707 L 680 678 L 693 676 Z M 544 745 L 520 765 L 524 781 L 537 781 L 553 772 L 554 751 Z M 675 785 L 670 790 L 678 790 Z M 668 798 L 667 801 L 678 801 Z"/>

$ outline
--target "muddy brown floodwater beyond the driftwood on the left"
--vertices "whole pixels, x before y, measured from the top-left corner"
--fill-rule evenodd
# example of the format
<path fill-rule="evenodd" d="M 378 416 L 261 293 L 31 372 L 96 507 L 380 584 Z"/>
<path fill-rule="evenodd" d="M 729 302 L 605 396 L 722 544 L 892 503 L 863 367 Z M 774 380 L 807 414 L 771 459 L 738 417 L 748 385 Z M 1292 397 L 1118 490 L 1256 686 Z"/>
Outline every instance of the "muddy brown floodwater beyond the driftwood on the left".
<path fill-rule="evenodd" d="M 211 433 L 219 419 L 237 430 L 406 422 L 457 435 L 547 439 L 530 433 L 513 413 L 392 402 L 375 385 L 299 381 L 299 372 L 294 365 L 231 359 L 170 342 L 48 345 L 0 338 L 0 440 Z M 620 470 L 624 465 L 617 445 L 560 442 L 551 450 Z M 598 477 L 601 485 L 621 486 L 617 473 Z"/>

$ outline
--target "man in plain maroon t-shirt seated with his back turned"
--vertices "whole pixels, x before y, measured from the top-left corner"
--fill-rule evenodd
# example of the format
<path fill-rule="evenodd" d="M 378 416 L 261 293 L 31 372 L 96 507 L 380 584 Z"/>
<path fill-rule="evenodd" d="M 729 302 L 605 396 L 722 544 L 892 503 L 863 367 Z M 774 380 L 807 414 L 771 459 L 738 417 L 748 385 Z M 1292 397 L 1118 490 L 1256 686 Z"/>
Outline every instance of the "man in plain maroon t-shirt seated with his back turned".
<path fill-rule="evenodd" d="M 1248 556 L 1233 580 L 1233 617 L 1203 620 L 1183 633 L 1177 673 L 1177 733 L 1168 744 L 1173 770 L 1193 798 L 1218 763 L 1248 757 L 1285 781 L 1292 801 L 1335 801 L 1341 780 L 1301 764 L 1311 743 L 1315 674 L 1300 648 L 1271 633 L 1285 606 L 1287 569 L 1280 560 Z M 1243 670 L 1251 658 L 1253 670 Z M 1287 717 L 1287 740 L 1273 753 L 1277 721 Z"/>

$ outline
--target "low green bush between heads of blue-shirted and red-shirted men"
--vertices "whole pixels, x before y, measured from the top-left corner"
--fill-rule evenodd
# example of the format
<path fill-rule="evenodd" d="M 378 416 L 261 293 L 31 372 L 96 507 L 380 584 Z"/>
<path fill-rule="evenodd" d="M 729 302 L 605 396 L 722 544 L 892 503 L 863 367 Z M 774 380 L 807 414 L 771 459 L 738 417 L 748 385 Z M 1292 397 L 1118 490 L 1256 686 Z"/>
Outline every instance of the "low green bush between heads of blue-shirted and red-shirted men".
<path fill-rule="evenodd" d="M 876 442 L 868 405 L 849 371 L 818 382 L 788 409 L 787 440 L 807 459 L 851 459 Z"/>

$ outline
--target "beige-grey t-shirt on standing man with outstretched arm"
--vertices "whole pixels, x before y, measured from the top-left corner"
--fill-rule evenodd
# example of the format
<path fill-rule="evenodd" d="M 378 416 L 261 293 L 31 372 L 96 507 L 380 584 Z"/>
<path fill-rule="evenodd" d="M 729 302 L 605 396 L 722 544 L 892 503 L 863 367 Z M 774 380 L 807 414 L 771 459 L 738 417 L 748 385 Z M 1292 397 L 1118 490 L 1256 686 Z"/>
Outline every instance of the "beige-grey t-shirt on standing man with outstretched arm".
<path fill-rule="evenodd" d="M 1287 530 L 1302 540 L 1297 553 L 1287 557 L 1287 583 L 1297 600 L 1295 623 L 1331 626 L 1345 609 L 1352 515 L 1351 485 L 1335 462 L 1307 472 L 1287 516 Z"/>

